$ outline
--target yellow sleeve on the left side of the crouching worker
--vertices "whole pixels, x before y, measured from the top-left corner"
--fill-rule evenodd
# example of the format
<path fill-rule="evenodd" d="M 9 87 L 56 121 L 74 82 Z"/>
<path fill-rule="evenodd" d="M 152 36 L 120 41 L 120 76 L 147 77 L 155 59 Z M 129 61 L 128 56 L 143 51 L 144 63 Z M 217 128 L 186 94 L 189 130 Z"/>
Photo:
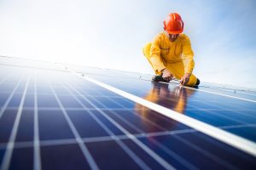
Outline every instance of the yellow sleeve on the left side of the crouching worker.
<path fill-rule="evenodd" d="M 157 74 L 166 68 L 162 58 L 160 57 L 160 35 L 154 38 L 150 48 L 149 61 Z"/>

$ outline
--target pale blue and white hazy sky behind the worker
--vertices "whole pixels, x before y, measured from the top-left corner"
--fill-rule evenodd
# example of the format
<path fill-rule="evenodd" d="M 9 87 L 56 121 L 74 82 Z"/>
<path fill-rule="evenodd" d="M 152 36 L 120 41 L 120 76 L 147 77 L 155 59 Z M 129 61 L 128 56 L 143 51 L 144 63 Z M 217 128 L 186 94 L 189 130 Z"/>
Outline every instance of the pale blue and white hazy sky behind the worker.
<path fill-rule="evenodd" d="M 180 14 L 202 82 L 256 88 L 254 0 L 0 0 L 0 55 L 154 73 L 142 53 Z"/>

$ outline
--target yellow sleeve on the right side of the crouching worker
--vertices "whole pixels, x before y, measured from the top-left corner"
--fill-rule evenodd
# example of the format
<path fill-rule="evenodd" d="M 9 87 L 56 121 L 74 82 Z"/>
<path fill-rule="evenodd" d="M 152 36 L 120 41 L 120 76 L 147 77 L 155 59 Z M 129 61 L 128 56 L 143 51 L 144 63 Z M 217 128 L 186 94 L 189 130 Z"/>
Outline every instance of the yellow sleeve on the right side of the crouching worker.
<path fill-rule="evenodd" d="M 189 37 L 184 37 L 182 59 L 185 73 L 192 73 L 195 66 L 193 57 L 194 53 L 191 48 Z"/>

